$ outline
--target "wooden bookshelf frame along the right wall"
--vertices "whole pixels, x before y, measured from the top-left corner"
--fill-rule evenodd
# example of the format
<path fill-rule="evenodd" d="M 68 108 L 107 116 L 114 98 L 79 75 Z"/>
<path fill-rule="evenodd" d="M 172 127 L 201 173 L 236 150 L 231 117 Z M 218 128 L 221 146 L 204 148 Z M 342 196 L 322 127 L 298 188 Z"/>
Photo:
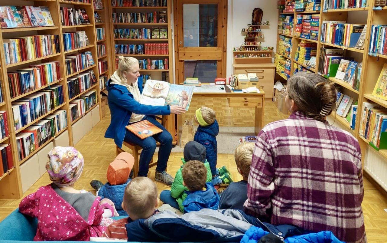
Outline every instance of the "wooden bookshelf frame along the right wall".
<path fill-rule="evenodd" d="M 386 55 L 375 55 L 373 53 L 369 53 L 369 47 L 370 47 L 370 34 L 371 34 L 371 26 L 372 25 L 377 25 L 377 24 L 387 24 L 387 19 L 385 18 L 387 14 L 387 7 L 382 7 L 380 10 L 376 10 L 373 8 L 375 3 L 375 0 L 368 0 L 367 1 L 367 6 L 366 7 L 360 7 L 360 8 L 349 8 L 349 9 L 328 9 L 324 10 L 324 0 L 321 1 L 321 10 L 318 11 L 317 13 L 320 14 L 320 24 L 319 24 L 319 38 L 317 41 L 317 63 L 316 63 L 316 68 L 313 69 L 311 67 L 307 67 L 305 64 L 305 68 L 308 69 L 308 71 L 314 72 L 316 74 L 319 74 L 319 56 L 320 56 L 320 48 L 321 47 L 327 47 L 327 48 L 337 48 L 337 49 L 342 49 L 345 50 L 345 57 L 352 57 L 355 61 L 357 62 L 362 62 L 363 63 L 363 68 L 361 71 L 361 77 L 360 77 L 360 87 L 359 91 L 354 90 L 352 88 L 352 85 L 349 83 L 346 83 L 340 79 L 336 78 L 329 78 L 330 81 L 334 82 L 338 88 L 342 91 L 342 93 L 347 94 L 351 97 L 354 98 L 354 100 L 358 100 L 358 111 L 356 114 L 356 124 L 355 124 L 355 129 L 351 129 L 348 121 L 346 121 L 345 117 L 341 117 L 336 114 L 336 112 L 332 112 L 330 117 L 332 118 L 331 120 L 334 121 L 334 124 L 339 123 L 340 128 L 343 128 L 347 131 L 349 131 L 355 138 L 359 140 L 360 148 L 362 151 L 362 162 L 364 165 L 364 160 L 366 157 L 370 158 L 367 156 L 366 153 L 369 149 L 376 151 L 380 156 L 382 156 L 385 160 L 387 160 L 387 150 L 375 150 L 375 148 L 370 145 L 369 141 L 363 138 L 361 136 L 360 130 L 361 130 L 361 116 L 363 115 L 363 109 L 361 109 L 363 106 L 363 102 L 372 102 L 380 105 L 383 109 L 387 109 L 387 101 L 374 97 L 372 96 L 372 91 L 375 87 L 375 84 L 378 81 L 378 77 L 380 75 L 380 72 L 382 71 L 382 68 L 384 64 L 387 64 L 387 59 Z M 283 14 L 285 17 L 287 16 L 293 16 L 294 19 L 296 19 L 297 14 L 304 14 L 306 12 L 291 12 L 291 13 L 279 13 Z M 356 48 L 351 48 L 351 47 L 344 47 L 340 45 L 334 45 L 332 43 L 323 43 L 320 40 L 320 34 L 322 31 L 322 23 L 323 21 L 346 21 L 346 23 L 349 24 L 366 24 L 367 29 L 366 29 L 366 38 L 365 38 L 365 45 L 364 49 L 356 49 Z M 282 29 L 279 31 L 282 31 Z M 287 36 L 289 38 L 292 38 L 291 42 L 291 56 L 288 58 L 291 60 L 291 71 L 290 71 L 290 76 L 293 76 L 293 71 L 294 71 L 294 64 L 300 64 L 295 60 L 295 50 L 297 49 L 296 46 L 300 42 L 300 38 L 296 37 L 294 34 L 294 31 L 292 33 L 278 33 L 278 36 L 283 35 Z M 310 40 L 308 40 L 310 41 Z M 312 41 L 310 41 L 312 42 Z M 277 50 L 278 50 L 278 45 L 277 45 Z M 281 53 L 277 53 L 278 56 L 284 57 Z M 371 162 L 368 162 L 372 164 Z M 366 172 L 369 172 L 368 174 L 375 179 L 375 181 L 379 182 L 380 180 L 377 178 L 377 176 L 374 176 L 374 172 L 370 171 L 366 167 L 364 167 Z"/>

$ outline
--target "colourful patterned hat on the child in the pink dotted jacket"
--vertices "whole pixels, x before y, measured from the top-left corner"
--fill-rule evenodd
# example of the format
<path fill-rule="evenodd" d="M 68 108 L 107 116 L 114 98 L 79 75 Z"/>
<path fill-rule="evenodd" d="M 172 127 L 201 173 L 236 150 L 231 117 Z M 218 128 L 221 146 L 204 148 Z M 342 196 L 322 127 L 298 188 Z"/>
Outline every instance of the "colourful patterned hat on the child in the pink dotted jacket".
<path fill-rule="evenodd" d="M 83 156 L 74 147 L 57 146 L 48 152 L 46 170 L 58 187 L 75 183 L 83 171 Z"/>

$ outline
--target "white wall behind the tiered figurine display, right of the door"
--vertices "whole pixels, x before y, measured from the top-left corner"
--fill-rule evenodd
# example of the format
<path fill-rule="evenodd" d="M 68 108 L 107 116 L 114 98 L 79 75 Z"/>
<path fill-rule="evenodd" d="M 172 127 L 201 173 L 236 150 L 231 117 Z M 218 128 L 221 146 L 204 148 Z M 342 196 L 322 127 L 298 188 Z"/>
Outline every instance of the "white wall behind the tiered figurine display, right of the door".
<path fill-rule="evenodd" d="M 277 2 L 273 0 L 228 0 L 227 22 L 227 73 L 230 77 L 233 72 L 233 47 L 239 47 L 243 41 L 242 28 L 251 23 L 254 8 L 260 8 L 264 14 L 262 21 L 270 21 L 269 29 L 262 29 L 264 41 L 262 46 L 274 47 L 277 45 L 278 10 Z M 272 54 L 274 57 L 274 53 Z"/>

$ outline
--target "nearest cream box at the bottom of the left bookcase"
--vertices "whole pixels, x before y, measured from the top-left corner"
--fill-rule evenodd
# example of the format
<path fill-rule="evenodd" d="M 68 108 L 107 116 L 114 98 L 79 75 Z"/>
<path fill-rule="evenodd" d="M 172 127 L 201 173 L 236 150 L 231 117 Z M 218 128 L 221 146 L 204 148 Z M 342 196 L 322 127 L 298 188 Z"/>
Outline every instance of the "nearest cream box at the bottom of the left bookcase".
<path fill-rule="evenodd" d="M 25 193 L 40 178 L 39 159 L 37 154 L 34 154 L 33 157 L 26 160 L 20 166 L 20 176 L 22 181 L 22 190 L 23 193 Z"/>

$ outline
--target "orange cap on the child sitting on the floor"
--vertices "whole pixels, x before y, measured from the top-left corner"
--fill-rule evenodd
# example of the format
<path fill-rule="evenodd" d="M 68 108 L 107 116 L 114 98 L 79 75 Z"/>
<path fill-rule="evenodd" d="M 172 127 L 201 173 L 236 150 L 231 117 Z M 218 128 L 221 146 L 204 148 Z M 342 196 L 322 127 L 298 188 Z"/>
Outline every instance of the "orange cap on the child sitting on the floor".
<path fill-rule="evenodd" d="M 130 153 L 122 152 L 109 164 L 106 178 L 111 185 L 124 184 L 134 165 L 134 157 Z"/>

